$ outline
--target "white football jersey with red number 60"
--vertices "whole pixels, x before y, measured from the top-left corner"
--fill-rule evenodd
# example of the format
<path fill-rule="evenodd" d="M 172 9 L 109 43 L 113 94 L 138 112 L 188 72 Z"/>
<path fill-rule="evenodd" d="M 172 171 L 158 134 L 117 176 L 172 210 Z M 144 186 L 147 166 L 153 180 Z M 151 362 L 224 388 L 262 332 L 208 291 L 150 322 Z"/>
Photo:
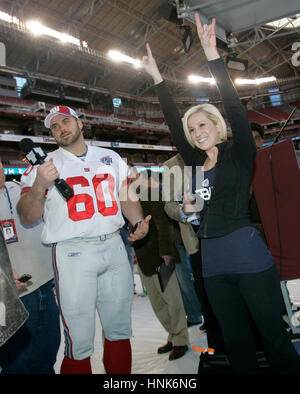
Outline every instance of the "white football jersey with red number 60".
<path fill-rule="evenodd" d="M 63 148 L 48 154 L 74 190 L 66 201 L 55 185 L 46 194 L 41 240 L 54 243 L 76 237 L 94 237 L 117 231 L 124 225 L 119 191 L 129 170 L 125 161 L 110 149 L 88 146 L 85 159 Z M 22 192 L 30 188 L 37 166 L 29 167 L 21 178 Z"/>

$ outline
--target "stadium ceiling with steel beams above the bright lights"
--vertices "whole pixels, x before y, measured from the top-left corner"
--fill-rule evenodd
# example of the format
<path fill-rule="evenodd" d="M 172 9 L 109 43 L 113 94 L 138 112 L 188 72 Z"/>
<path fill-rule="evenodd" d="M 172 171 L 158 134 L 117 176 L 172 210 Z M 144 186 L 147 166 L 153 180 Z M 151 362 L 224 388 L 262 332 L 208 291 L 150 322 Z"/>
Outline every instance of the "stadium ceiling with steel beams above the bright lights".
<path fill-rule="evenodd" d="M 196 37 L 193 12 L 198 11 L 203 21 L 216 17 L 221 54 L 248 61 L 247 72 L 239 76 L 274 75 L 299 85 L 300 67 L 292 62 L 292 46 L 300 42 L 299 0 L 2 0 L 0 11 L 18 21 L 0 19 L 0 41 L 6 48 L 0 72 L 32 81 L 124 97 L 151 96 L 152 83 L 143 71 L 112 62 L 107 55 L 116 49 L 141 59 L 149 42 L 175 92 L 188 95 L 189 74 L 209 76 Z M 283 17 L 288 18 L 283 25 L 267 24 Z M 26 28 L 29 21 L 69 34 L 79 44 L 33 35 Z M 192 38 L 188 52 L 182 42 L 185 32 Z"/>

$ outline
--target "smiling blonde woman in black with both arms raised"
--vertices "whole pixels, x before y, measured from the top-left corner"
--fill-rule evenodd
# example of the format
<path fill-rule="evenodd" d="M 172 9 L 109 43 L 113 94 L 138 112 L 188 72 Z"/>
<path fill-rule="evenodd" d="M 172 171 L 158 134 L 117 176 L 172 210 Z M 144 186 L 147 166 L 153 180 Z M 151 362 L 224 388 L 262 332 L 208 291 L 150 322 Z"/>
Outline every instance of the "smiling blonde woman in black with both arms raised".
<path fill-rule="evenodd" d="M 194 168 L 202 166 L 204 171 L 202 189 L 206 193 L 197 190 L 205 200 L 197 235 L 201 239 L 205 288 L 234 373 L 259 373 L 249 313 L 273 371 L 300 373 L 300 358 L 282 319 L 279 275 L 272 255 L 249 219 L 256 147 L 246 111 L 218 53 L 215 19 L 202 26 L 196 13 L 195 20 L 231 126 L 232 144 L 226 142 L 222 115 L 211 105 L 193 107 L 181 120 L 149 45 L 142 63 L 154 80 L 173 142 L 184 162 Z"/>

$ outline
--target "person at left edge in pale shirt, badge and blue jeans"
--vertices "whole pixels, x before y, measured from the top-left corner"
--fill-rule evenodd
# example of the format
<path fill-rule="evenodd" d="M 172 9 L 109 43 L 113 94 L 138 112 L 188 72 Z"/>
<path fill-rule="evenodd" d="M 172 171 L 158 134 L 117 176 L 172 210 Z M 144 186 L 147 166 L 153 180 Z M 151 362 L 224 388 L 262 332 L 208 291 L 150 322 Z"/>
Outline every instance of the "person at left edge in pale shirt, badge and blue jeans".
<path fill-rule="evenodd" d="M 19 296 L 29 312 L 26 323 L 0 348 L 2 374 L 54 374 L 60 345 L 59 311 L 53 292 L 52 251 L 41 243 L 41 221 L 24 227 L 16 205 L 20 184 L 5 182 L 0 162 L 0 222 Z M 18 280 L 29 273 L 26 283 Z"/>

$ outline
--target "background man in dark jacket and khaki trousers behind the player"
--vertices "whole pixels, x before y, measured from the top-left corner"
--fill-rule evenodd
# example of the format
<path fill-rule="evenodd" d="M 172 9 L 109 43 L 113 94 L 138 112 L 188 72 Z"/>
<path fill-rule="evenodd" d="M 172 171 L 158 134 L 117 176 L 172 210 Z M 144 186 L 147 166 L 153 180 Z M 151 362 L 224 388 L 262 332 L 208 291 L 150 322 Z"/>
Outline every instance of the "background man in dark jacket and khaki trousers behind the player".
<path fill-rule="evenodd" d="M 157 174 L 155 174 L 157 175 Z M 147 198 L 141 201 L 144 215 L 151 215 L 149 233 L 134 242 L 137 264 L 143 286 L 151 302 L 153 311 L 168 333 L 167 343 L 158 348 L 159 354 L 170 352 L 169 360 L 182 357 L 188 350 L 188 330 L 184 305 L 175 270 L 165 291 L 161 290 L 156 268 L 164 261 L 168 265 L 171 259 L 180 261 L 176 255 L 173 240 L 173 224 L 164 211 L 161 192 L 157 201 L 151 200 L 150 190 L 159 189 L 160 185 L 150 170 L 140 175 L 141 187 L 147 192 Z"/>

